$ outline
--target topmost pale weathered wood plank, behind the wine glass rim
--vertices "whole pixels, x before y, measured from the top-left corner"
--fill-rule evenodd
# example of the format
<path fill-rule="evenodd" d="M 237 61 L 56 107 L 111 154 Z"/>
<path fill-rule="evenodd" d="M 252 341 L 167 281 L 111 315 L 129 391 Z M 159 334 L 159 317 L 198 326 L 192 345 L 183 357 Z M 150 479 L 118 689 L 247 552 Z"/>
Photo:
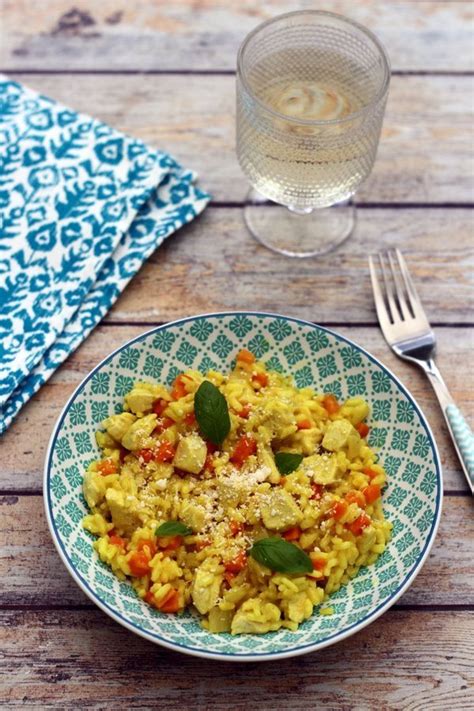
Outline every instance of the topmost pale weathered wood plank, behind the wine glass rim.
<path fill-rule="evenodd" d="M 2 0 L 0 65 L 8 70 L 233 69 L 257 24 L 312 3 L 289 0 Z M 370 27 L 395 70 L 472 68 L 469 2 L 333 0 L 333 12 Z"/>

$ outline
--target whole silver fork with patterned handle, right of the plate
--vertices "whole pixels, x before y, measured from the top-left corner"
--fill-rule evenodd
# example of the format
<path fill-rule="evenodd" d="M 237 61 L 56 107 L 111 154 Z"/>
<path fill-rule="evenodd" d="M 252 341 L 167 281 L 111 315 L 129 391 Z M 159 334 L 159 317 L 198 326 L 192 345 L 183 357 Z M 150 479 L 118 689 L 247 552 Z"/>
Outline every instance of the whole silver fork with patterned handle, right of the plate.
<path fill-rule="evenodd" d="M 455 405 L 433 360 L 436 338 L 400 250 L 379 255 L 382 280 L 374 259 L 369 257 L 370 277 L 380 328 L 392 350 L 404 360 L 416 363 L 428 376 L 461 462 L 467 483 L 474 494 L 474 435 Z"/>

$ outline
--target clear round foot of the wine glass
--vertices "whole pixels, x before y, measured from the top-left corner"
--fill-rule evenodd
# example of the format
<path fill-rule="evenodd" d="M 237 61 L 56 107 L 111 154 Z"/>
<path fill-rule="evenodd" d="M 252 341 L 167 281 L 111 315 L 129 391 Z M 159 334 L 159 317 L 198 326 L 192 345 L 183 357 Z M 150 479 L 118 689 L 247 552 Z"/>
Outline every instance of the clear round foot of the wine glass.
<path fill-rule="evenodd" d="M 339 247 L 353 232 L 356 210 L 349 199 L 311 212 L 288 209 L 255 190 L 247 195 L 244 220 L 268 249 L 287 257 L 317 257 Z"/>

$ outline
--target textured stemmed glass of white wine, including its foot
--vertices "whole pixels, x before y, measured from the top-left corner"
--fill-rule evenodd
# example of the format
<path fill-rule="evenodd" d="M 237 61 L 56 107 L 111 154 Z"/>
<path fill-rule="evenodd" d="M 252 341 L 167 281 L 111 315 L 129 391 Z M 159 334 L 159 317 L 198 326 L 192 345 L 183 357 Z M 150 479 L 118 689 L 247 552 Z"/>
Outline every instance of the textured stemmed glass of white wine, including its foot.
<path fill-rule="evenodd" d="M 252 186 L 251 234 L 292 257 L 325 254 L 354 229 L 351 196 L 372 170 L 390 63 L 369 30 L 303 10 L 253 30 L 237 59 L 237 157 Z"/>

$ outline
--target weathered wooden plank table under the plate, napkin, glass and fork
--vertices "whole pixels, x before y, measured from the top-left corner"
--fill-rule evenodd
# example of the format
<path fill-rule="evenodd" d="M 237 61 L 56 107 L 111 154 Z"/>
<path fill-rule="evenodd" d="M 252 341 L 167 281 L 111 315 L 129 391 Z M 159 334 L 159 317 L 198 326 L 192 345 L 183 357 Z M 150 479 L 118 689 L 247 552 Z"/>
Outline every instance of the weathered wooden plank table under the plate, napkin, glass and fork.
<path fill-rule="evenodd" d="M 336 254 L 302 262 L 266 251 L 246 233 L 246 182 L 234 154 L 238 44 L 258 22 L 298 3 L 1 6 L 2 70 L 169 150 L 199 171 L 214 199 L 149 260 L 0 441 L 0 706 L 474 708 L 473 504 L 427 381 L 382 339 L 367 274 L 369 252 L 389 245 L 405 252 L 436 327 L 440 368 L 472 421 L 471 3 L 326 2 L 380 36 L 393 79 L 376 166 L 357 194 L 357 231 Z M 394 370 L 437 436 L 445 499 L 429 560 L 382 618 L 319 653 L 230 665 L 154 646 L 96 609 L 53 548 L 41 480 L 60 409 L 111 349 L 181 316 L 255 308 L 334 327 Z"/>

